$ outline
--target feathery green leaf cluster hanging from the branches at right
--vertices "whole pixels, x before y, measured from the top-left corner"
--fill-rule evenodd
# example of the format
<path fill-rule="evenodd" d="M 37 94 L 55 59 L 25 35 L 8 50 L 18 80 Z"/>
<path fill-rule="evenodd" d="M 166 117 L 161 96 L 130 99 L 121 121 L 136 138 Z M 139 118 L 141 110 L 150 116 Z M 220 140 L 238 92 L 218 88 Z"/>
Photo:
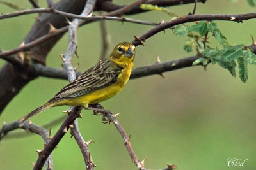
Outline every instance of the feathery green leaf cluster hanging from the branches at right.
<path fill-rule="evenodd" d="M 232 76 L 236 76 L 236 66 L 238 65 L 239 78 L 242 82 L 248 80 L 248 64 L 256 64 L 255 53 L 245 45 L 228 45 L 227 38 L 218 29 L 216 22 L 201 21 L 189 26 L 178 25 L 173 31 L 177 36 L 188 36 L 189 39 L 184 45 L 186 52 L 191 52 L 196 48 L 204 56 L 195 60 L 193 66 L 198 64 L 207 66 L 211 62 L 228 69 Z M 220 43 L 221 49 L 207 45 L 209 33 Z"/>

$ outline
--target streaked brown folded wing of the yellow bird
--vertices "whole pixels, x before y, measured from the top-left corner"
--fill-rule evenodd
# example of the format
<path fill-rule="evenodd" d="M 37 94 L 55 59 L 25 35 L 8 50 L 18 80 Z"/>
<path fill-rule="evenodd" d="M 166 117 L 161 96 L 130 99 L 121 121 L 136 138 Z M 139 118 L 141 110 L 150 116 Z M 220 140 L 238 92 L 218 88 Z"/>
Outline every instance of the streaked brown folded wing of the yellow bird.
<path fill-rule="evenodd" d="M 99 62 L 61 89 L 50 101 L 90 94 L 95 90 L 115 83 L 121 71 L 122 67 L 116 66 L 115 68 L 115 65 L 110 60 Z"/>

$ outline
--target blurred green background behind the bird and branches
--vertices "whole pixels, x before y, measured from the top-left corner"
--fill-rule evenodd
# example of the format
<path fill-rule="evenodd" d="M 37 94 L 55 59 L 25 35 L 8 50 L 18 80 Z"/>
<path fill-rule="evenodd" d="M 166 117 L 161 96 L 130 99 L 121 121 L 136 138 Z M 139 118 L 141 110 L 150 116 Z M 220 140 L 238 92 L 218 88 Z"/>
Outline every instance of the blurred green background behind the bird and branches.
<path fill-rule="evenodd" d="M 10 1 L 20 4 L 20 1 Z M 114 1 L 127 4 L 127 1 Z M 20 4 L 31 8 L 28 1 Z M 45 1 L 40 1 L 45 7 Z M 179 15 L 193 10 L 193 4 L 168 8 Z M 197 14 L 204 13 L 249 13 L 256 8 L 246 1 L 208 0 L 199 3 Z M 15 11 L 0 4 L 1 13 Z M 9 50 L 18 46 L 35 21 L 35 15 L 23 15 L 0 21 L 0 48 Z M 128 16 L 140 20 L 160 22 L 169 16 L 157 11 Z M 219 29 L 231 45 L 250 45 L 250 34 L 256 37 L 255 20 L 217 22 Z M 107 21 L 111 47 L 122 41 L 132 41 L 151 26 Z M 85 71 L 98 60 L 101 49 L 99 22 L 78 30 L 77 53 L 73 65 L 79 62 L 79 71 Z M 181 59 L 195 55 L 183 50 L 186 37 L 177 37 L 171 30 L 160 32 L 147 39 L 145 46 L 136 48 L 135 66 L 153 64 L 157 55 L 161 61 Z M 67 50 L 67 34 L 57 43 L 47 57 L 47 66 L 61 68 L 58 54 Z M 212 44 L 214 46 L 214 43 Z M 0 66 L 4 61 L 0 60 Z M 207 71 L 201 66 L 189 67 L 158 75 L 131 80 L 117 96 L 101 103 L 113 113 L 121 113 L 118 120 L 127 134 L 138 158 L 147 157 L 145 167 L 160 169 L 166 163 L 176 164 L 178 169 L 255 169 L 255 92 L 256 67 L 249 66 L 249 81 L 242 83 L 227 70 L 211 64 Z M 4 80 L 0 80 L 4 81 Z M 68 82 L 51 78 L 31 81 L 6 107 L 1 115 L 5 122 L 17 120 L 54 96 Z M 32 118 L 38 125 L 47 124 L 63 116 L 67 106 L 51 108 Z M 113 124 L 102 124 L 102 117 L 92 116 L 92 111 L 83 110 L 79 127 L 86 141 L 93 138 L 97 144 L 90 145 L 97 169 L 136 169 L 127 153 L 124 142 Z M 3 125 L 1 122 L 0 125 Z M 55 125 L 53 133 L 60 124 Z M 21 134 L 17 138 L 17 134 Z M 1 169 L 31 169 L 44 142 L 40 136 L 17 130 L 8 134 L 0 143 Z M 53 152 L 55 169 L 84 169 L 81 151 L 74 138 L 67 134 Z M 227 159 L 248 159 L 243 167 L 228 167 Z"/>

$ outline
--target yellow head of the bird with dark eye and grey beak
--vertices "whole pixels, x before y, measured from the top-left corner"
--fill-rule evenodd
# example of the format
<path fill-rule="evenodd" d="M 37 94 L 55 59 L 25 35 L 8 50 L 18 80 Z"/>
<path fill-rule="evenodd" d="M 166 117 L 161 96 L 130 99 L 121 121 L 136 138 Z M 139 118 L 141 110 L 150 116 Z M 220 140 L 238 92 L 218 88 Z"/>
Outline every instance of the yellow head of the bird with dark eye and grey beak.
<path fill-rule="evenodd" d="M 109 55 L 109 58 L 120 66 L 127 66 L 134 61 L 135 46 L 132 43 L 124 42 L 115 46 L 113 52 Z"/>

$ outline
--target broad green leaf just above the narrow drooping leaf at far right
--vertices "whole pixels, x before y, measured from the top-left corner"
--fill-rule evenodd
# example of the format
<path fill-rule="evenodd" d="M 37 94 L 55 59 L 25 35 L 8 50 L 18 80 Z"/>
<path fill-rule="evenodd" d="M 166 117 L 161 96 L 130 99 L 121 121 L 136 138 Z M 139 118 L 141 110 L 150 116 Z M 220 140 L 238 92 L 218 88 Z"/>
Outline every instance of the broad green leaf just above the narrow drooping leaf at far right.
<path fill-rule="evenodd" d="M 225 61 L 232 61 L 243 55 L 243 45 L 227 46 L 222 57 Z"/>

